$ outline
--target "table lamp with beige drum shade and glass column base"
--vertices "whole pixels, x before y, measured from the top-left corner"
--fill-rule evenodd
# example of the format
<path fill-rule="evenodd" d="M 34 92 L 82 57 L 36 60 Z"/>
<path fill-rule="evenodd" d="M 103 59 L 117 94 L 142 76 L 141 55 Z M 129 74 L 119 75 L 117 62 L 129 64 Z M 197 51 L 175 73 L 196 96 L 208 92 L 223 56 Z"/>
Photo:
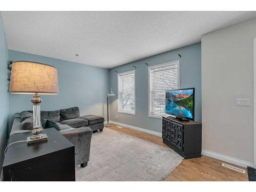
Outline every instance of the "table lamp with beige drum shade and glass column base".
<path fill-rule="evenodd" d="M 58 94 L 57 69 L 43 63 L 32 61 L 15 61 L 12 63 L 10 93 L 33 94 L 33 130 L 27 138 L 28 144 L 48 140 L 41 134 L 40 95 Z"/>

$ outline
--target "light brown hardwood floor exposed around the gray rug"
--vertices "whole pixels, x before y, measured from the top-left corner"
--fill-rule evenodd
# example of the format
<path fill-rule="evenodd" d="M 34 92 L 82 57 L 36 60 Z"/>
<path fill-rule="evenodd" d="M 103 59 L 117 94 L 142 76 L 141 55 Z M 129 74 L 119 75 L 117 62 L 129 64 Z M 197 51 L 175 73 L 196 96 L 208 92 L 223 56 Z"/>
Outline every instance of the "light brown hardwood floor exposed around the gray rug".
<path fill-rule="evenodd" d="M 116 126 L 117 125 L 112 124 L 109 129 L 168 147 L 162 142 L 161 137 L 139 132 L 126 127 L 120 129 Z M 105 129 L 108 128 L 105 127 Z M 234 165 L 246 169 L 246 174 L 242 174 L 221 166 L 223 162 L 224 161 L 208 156 L 202 156 L 201 158 L 194 159 L 184 159 L 172 172 L 172 174 L 165 179 L 165 181 L 248 181 L 246 168 Z"/>

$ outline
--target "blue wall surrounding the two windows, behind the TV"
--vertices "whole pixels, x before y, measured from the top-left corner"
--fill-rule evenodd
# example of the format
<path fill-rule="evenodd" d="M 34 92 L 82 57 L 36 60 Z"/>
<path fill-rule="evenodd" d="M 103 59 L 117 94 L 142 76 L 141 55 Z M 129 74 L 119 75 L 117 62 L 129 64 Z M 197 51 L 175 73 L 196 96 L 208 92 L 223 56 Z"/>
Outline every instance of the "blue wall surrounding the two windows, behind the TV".
<path fill-rule="evenodd" d="M 181 58 L 178 56 L 181 54 Z M 110 70 L 110 86 L 116 96 L 111 97 L 112 121 L 129 124 L 143 129 L 161 132 L 161 119 L 148 117 L 147 67 L 180 60 L 180 88 L 196 88 L 195 120 L 201 121 L 201 42 L 166 53 L 131 62 Z M 148 63 L 148 66 L 145 65 Z M 136 66 L 136 115 L 117 113 L 117 73 L 134 70 Z M 118 118 L 116 119 L 116 115 Z"/>

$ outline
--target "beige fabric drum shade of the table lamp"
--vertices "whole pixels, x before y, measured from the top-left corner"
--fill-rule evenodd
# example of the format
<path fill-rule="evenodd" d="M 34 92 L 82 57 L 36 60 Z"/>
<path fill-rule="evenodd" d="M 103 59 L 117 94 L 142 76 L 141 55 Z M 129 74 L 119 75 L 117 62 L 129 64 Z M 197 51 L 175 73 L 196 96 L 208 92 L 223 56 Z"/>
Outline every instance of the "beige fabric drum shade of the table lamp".
<path fill-rule="evenodd" d="M 32 61 L 12 63 L 10 93 L 52 95 L 58 92 L 55 67 Z"/>

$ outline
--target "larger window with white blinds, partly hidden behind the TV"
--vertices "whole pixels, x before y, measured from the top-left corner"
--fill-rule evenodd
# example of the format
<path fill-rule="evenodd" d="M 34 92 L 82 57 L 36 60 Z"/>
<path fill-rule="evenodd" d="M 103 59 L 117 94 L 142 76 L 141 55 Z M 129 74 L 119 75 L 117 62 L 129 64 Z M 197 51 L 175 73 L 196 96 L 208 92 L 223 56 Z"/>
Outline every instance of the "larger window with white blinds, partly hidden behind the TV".
<path fill-rule="evenodd" d="M 165 116 L 165 91 L 179 89 L 179 60 L 148 67 L 148 116 Z"/>

